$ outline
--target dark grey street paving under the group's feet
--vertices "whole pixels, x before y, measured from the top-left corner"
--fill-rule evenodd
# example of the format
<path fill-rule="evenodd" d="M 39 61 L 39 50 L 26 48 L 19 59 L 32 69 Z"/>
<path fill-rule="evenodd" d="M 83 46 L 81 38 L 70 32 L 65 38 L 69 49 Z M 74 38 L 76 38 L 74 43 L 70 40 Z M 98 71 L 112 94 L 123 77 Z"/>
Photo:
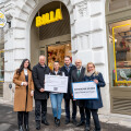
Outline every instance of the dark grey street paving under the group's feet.
<path fill-rule="evenodd" d="M 29 129 L 31 131 L 35 130 L 35 115 L 34 110 L 29 114 Z M 11 105 L 7 104 L 0 104 L 0 131 L 17 131 L 17 117 L 16 112 L 13 111 L 13 107 Z M 50 126 L 46 127 L 41 124 L 40 131 L 84 131 L 83 127 L 75 127 L 72 123 L 66 126 L 64 124 L 64 110 L 61 117 L 61 126 L 59 128 L 56 128 L 53 124 L 53 117 L 51 112 L 51 108 L 48 108 L 48 121 Z M 79 118 L 78 118 L 79 121 Z M 92 129 L 93 129 L 93 122 L 92 122 Z M 92 131 L 92 130 L 91 130 Z M 131 131 L 131 129 L 126 127 L 120 127 L 118 124 L 111 124 L 111 123 L 102 123 L 102 131 Z"/>

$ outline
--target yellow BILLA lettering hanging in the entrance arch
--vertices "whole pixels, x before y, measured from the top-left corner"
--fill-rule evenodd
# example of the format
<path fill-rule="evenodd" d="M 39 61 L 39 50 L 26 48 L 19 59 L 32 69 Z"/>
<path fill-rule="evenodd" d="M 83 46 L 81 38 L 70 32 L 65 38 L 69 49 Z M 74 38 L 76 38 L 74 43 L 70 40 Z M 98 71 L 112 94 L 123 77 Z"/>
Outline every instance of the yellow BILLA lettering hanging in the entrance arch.
<path fill-rule="evenodd" d="M 50 11 L 49 13 L 45 13 L 41 16 L 36 16 L 36 27 L 41 25 L 47 25 L 57 21 L 62 20 L 61 9 L 57 9 L 56 11 Z"/>

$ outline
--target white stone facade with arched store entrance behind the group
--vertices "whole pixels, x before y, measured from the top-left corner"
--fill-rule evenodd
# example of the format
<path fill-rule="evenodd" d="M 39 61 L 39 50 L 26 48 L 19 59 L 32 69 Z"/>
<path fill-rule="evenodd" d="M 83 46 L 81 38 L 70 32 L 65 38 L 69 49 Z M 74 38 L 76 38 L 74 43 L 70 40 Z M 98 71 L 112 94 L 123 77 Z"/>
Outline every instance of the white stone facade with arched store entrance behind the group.
<path fill-rule="evenodd" d="M 53 60 L 63 64 L 63 57 L 71 56 L 72 62 L 82 59 L 83 66 L 92 61 L 102 72 L 106 86 L 102 88 L 104 108 L 102 114 L 110 114 L 110 75 L 105 17 L 106 0 L 11 0 L 0 3 L 8 19 L 4 27 L 4 84 L 3 98 L 13 99 L 12 78 L 24 58 L 32 67 L 38 56 L 45 55 L 47 64 Z M 36 25 L 36 17 L 61 9 L 62 20 Z M 58 16 L 59 17 L 59 16 Z M 13 84 L 12 84 L 13 85 Z M 13 85 L 14 86 L 14 85 Z"/>

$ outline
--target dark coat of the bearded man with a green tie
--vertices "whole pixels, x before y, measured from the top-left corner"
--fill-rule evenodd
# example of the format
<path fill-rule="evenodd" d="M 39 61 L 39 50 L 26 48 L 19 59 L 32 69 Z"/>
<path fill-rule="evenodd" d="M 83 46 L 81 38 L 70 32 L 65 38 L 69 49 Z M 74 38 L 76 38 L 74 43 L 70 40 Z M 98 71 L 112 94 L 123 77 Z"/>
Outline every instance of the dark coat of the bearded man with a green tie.
<path fill-rule="evenodd" d="M 78 69 L 72 71 L 71 74 L 71 81 L 73 82 L 83 82 L 84 81 L 84 74 L 85 74 L 85 68 L 82 67 L 80 76 L 78 78 Z M 84 99 L 76 100 L 78 106 L 84 107 Z"/>

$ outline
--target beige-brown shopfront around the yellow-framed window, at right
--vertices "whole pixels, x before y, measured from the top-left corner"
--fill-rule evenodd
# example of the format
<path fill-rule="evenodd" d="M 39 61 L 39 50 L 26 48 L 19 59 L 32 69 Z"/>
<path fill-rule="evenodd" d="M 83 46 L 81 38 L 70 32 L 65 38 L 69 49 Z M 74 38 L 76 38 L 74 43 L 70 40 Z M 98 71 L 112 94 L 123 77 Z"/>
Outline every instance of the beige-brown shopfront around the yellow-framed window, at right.
<path fill-rule="evenodd" d="M 110 111 L 131 115 L 131 0 L 106 3 Z"/>

